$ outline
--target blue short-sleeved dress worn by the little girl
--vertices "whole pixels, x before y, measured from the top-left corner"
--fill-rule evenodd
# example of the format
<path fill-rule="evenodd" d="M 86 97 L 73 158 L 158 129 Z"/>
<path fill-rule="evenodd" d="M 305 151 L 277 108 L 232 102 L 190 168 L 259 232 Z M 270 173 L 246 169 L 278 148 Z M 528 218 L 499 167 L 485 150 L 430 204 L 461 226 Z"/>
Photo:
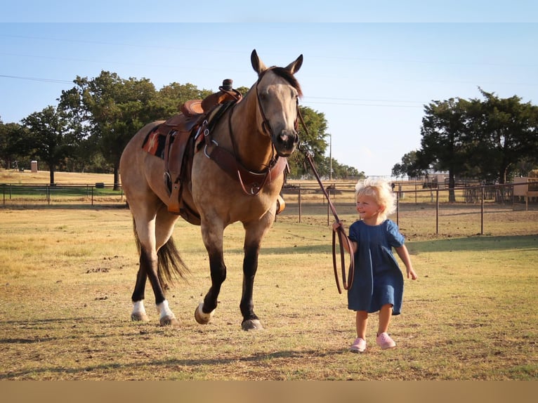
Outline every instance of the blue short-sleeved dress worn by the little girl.
<path fill-rule="evenodd" d="M 392 304 L 393 315 L 400 315 L 404 279 L 392 251 L 404 244 L 398 225 L 391 220 L 379 225 L 355 221 L 349 227 L 349 239 L 357 242 L 357 251 L 348 308 L 372 313 Z"/>

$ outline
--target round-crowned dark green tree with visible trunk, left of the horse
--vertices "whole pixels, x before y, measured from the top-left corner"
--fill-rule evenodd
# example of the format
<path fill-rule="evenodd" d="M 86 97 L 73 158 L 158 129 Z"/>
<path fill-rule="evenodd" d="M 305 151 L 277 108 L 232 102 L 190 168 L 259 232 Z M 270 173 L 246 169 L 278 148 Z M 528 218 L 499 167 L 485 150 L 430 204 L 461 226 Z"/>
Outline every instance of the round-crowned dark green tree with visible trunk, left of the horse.
<path fill-rule="evenodd" d="M 73 128 L 72 121 L 63 110 L 52 106 L 30 114 L 22 119 L 22 123 L 28 129 L 28 143 L 34 145 L 33 154 L 48 165 L 53 185 L 56 167 L 71 157 L 80 143 L 79 131 Z"/>

